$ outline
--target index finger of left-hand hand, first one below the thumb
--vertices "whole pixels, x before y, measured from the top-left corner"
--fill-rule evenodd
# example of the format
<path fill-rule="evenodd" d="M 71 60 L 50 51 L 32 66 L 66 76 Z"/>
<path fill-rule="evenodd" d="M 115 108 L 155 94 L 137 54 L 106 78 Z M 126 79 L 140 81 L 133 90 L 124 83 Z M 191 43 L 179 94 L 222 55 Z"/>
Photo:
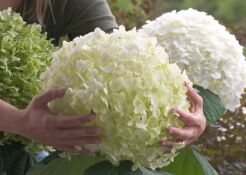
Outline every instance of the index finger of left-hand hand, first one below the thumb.
<path fill-rule="evenodd" d="M 84 115 L 79 117 L 59 117 L 57 118 L 57 125 L 59 128 L 73 128 L 79 126 L 81 123 L 90 122 L 95 119 L 93 115 Z"/>

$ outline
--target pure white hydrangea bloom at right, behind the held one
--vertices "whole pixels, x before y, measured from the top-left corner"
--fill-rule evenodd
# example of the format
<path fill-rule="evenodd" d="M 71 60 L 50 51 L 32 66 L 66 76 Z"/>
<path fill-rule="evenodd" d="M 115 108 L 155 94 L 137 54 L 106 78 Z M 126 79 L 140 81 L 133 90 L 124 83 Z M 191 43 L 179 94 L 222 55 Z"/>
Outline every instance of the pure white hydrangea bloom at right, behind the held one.
<path fill-rule="evenodd" d="M 148 21 L 141 32 L 155 36 L 195 84 L 218 94 L 227 109 L 240 106 L 246 61 L 235 36 L 212 16 L 188 9 Z"/>

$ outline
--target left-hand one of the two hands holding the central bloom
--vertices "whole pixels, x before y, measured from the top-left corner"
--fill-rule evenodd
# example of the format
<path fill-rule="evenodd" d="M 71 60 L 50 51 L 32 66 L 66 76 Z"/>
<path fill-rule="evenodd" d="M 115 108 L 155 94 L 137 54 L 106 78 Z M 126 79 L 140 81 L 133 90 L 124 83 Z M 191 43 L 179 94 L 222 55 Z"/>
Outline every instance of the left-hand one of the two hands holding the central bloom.
<path fill-rule="evenodd" d="M 93 120 L 94 116 L 57 116 L 49 110 L 48 102 L 64 96 L 65 92 L 66 89 L 51 89 L 34 97 L 29 106 L 22 111 L 23 123 L 16 128 L 18 133 L 71 153 L 83 151 L 77 150 L 76 145 L 99 144 L 100 139 L 97 136 L 101 133 L 100 128 L 79 126 Z"/>

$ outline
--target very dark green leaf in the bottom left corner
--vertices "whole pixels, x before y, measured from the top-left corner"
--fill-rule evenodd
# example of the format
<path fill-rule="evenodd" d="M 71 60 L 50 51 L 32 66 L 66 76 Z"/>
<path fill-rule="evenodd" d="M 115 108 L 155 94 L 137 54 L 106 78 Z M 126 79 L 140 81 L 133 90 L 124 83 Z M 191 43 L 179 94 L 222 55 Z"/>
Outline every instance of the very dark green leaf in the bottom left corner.
<path fill-rule="evenodd" d="M 0 146 L 0 174 L 25 175 L 35 163 L 33 156 L 20 143 Z"/>

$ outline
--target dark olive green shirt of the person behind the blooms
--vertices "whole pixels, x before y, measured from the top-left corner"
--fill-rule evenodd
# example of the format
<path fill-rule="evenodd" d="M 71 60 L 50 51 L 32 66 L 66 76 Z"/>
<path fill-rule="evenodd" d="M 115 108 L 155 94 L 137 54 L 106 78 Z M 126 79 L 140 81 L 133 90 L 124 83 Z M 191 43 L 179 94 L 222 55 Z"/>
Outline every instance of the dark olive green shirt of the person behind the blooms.
<path fill-rule="evenodd" d="M 97 27 L 105 32 L 118 27 L 106 0 L 52 0 L 44 19 L 44 31 L 56 45 L 62 36 L 72 40 Z"/>

